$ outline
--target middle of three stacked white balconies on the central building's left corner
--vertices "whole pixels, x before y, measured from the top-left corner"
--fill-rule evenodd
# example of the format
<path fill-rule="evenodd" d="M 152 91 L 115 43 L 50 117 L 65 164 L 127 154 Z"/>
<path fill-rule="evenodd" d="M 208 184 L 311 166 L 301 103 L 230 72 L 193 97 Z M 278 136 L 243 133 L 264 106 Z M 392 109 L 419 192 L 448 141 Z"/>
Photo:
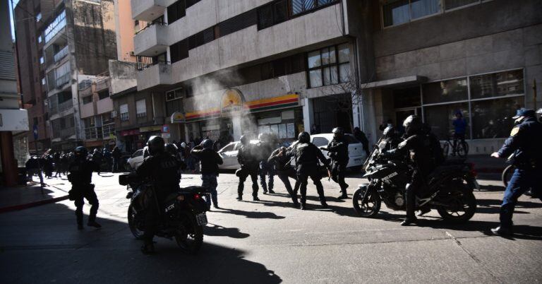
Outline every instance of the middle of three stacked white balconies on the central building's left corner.
<path fill-rule="evenodd" d="M 154 57 L 167 50 L 167 26 L 154 23 L 140 30 L 133 37 L 135 55 Z"/>

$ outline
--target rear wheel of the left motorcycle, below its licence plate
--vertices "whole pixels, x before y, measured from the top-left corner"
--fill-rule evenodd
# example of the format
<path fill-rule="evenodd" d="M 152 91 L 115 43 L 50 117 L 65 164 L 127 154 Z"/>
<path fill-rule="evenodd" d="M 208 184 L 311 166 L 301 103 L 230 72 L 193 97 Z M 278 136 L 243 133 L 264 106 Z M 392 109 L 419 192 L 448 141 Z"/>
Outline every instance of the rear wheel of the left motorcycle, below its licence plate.
<path fill-rule="evenodd" d="M 181 213 L 183 225 L 175 235 L 175 241 L 185 254 L 196 254 L 203 244 L 203 226 L 198 225 L 193 213 Z"/>

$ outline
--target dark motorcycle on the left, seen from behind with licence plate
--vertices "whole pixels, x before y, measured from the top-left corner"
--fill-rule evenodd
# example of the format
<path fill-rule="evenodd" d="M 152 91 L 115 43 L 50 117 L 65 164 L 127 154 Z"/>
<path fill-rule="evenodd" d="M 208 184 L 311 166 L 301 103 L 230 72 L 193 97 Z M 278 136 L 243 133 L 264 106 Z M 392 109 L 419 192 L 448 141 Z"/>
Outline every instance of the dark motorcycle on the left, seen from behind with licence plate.
<path fill-rule="evenodd" d="M 158 237 L 175 238 L 181 251 L 195 254 L 203 244 L 203 226 L 207 224 L 207 204 L 203 197 L 209 198 L 204 187 L 184 187 L 169 194 L 159 206 L 152 183 L 134 174 L 121 174 L 119 184 L 128 189 L 128 227 L 135 239 L 142 239 L 145 231 L 145 204 L 154 202 L 159 210 L 157 220 Z"/>

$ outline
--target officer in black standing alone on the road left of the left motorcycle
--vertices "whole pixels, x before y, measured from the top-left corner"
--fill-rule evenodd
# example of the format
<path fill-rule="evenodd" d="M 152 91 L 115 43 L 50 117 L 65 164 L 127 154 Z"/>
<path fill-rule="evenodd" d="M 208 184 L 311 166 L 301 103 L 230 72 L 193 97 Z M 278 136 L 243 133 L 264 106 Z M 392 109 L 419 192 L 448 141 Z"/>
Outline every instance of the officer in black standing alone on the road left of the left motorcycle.
<path fill-rule="evenodd" d="M 98 198 L 94 191 L 92 182 L 92 170 L 94 164 L 87 160 L 88 150 L 79 146 L 75 151 L 75 160 L 68 166 L 68 181 L 71 182 L 71 191 L 69 191 L 70 200 L 76 203 L 77 229 L 83 230 L 83 204 L 84 199 L 90 203 L 90 214 L 88 215 L 87 225 L 90 227 L 102 227 L 96 222 L 98 212 Z"/>

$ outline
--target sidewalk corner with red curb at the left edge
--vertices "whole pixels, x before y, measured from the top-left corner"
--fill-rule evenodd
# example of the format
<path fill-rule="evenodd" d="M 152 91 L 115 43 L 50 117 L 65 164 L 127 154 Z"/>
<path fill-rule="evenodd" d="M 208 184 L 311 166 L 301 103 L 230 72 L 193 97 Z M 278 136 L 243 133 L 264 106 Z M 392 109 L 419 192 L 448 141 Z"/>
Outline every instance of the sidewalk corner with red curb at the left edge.
<path fill-rule="evenodd" d="M 46 186 L 43 190 L 39 183 L 26 187 L 0 188 L 0 213 L 68 199 L 71 187 L 68 180 L 52 178 L 44 179 L 44 182 Z"/>

